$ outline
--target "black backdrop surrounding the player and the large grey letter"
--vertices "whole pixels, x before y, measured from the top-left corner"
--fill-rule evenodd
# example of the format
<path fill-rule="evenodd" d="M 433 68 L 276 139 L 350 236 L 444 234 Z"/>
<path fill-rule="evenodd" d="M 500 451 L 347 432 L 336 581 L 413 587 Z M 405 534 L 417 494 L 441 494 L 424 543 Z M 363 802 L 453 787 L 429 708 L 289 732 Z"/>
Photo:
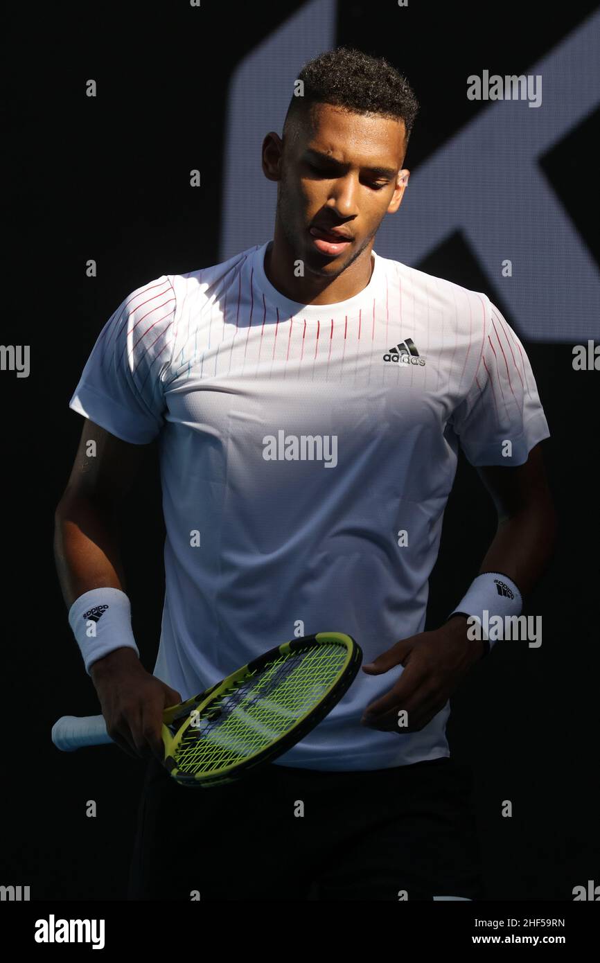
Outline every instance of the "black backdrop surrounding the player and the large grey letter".
<path fill-rule="evenodd" d="M 28 378 L 0 373 L 3 403 L 4 780 L 0 883 L 31 898 L 122 899 L 143 764 L 104 746 L 61 754 L 50 728 L 99 706 L 66 620 L 52 553 L 54 508 L 82 428 L 68 401 L 100 328 L 162 273 L 218 262 L 227 82 L 300 4 L 49 5 L 9 13 L 4 39 L 4 344 L 31 345 Z M 337 43 L 386 57 L 421 102 L 405 166 L 418 169 L 484 108 L 465 76 L 528 72 L 594 4 L 478 0 L 339 4 Z M 300 64 L 299 64 L 300 69 Z M 101 96 L 85 96 L 89 78 Z M 283 119 L 283 118 L 281 118 Z M 597 114 L 544 159 L 596 262 Z M 265 132 L 266 133 L 266 132 Z M 258 163 L 258 159 L 256 159 Z M 189 170 L 202 170 L 191 190 Z M 206 186 L 204 186 L 206 185 Z M 401 212 L 399 215 L 401 216 Z M 376 244 L 377 248 L 377 244 Z M 98 277 L 85 274 L 88 258 Z M 485 291 L 517 333 L 459 235 L 417 267 Z M 600 320 L 599 320 L 600 338 Z M 543 443 L 561 515 L 556 558 L 528 600 L 539 649 L 496 646 L 452 700 L 453 754 L 475 774 L 489 898 L 572 899 L 600 883 L 598 812 L 597 372 L 574 372 L 572 343 L 525 343 L 552 438 Z M 430 583 L 428 627 L 477 573 L 495 513 L 461 459 Z M 134 630 L 152 668 L 162 611 L 157 458 L 123 512 Z M 88 819 L 94 799 L 98 817 Z M 502 800 L 513 803 L 511 819 Z"/>

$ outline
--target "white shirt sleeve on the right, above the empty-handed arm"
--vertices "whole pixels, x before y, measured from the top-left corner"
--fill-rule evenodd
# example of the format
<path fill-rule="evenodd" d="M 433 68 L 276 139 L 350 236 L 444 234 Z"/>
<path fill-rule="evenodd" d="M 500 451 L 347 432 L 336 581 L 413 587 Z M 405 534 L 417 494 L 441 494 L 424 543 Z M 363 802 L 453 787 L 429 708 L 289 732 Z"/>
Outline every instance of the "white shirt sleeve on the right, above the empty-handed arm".
<path fill-rule="evenodd" d="M 472 465 L 520 465 L 550 431 L 523 345 L 498 308 L 483 297 L 486 319 L 479 365 L 451 424 Z M 509 450 L 510 457 L 505 454 Z"/>

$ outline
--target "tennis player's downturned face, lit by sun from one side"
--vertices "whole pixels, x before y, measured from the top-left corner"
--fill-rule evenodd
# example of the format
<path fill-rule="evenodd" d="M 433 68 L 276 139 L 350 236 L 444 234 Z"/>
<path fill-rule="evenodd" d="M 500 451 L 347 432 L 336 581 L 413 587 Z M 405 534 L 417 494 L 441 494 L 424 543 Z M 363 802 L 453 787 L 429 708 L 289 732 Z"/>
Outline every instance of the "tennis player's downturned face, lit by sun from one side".
<path fill-rule="evenodd" d="M 305 271 L 333 278 L 367 247 L 408 180 L 404 123 L 318 104 L 283 143 L 277 218 Z M 349 237 L 327 233 L 339 228 Z"/>

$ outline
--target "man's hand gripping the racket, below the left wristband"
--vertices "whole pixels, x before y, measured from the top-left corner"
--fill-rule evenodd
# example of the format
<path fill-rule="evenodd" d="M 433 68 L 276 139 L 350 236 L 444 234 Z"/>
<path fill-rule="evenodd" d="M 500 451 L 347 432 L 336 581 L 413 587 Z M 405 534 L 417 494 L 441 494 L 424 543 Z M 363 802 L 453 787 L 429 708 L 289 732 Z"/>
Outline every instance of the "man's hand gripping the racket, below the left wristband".
<path fill-rule="evenodd" d="M 111 739 L 129 756 L 154 755 L 163 763 L 163 711 L 181 702 L 179 692 L 146 672 L 131 648 L 109 652 L 90 674 Z"/>

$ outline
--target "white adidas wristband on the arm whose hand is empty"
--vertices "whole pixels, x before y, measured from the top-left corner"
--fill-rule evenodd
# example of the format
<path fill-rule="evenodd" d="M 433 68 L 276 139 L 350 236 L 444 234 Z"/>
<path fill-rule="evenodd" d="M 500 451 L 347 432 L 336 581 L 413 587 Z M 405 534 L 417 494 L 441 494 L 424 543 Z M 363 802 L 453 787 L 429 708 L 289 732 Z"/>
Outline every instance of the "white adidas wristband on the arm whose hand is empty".
<path fill-rule="evenodd" d="M 473 620 L 470 624 L 476 632 L 474 638 L 482 638 L 492 648 L 498 638 L 504 638 L 505 618 L 520 615 L 522 609 L 521 593 L 508 575 L 483 572 L 473 580 L 448 618 L 457 613 L 470 617 Z M 490 628 L 494 630 L 493 638 L 489 636 Z"/>

